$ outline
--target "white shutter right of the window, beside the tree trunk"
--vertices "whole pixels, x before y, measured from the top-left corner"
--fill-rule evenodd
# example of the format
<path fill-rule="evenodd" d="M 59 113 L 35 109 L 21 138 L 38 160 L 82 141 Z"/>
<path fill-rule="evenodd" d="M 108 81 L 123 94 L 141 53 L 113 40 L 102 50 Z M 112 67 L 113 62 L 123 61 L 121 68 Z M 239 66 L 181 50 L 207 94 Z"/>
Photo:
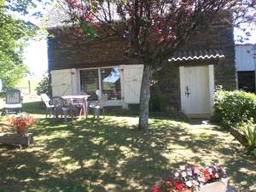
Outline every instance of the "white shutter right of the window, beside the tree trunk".
<path fill-rule="evenodd" d="M 123 68 L 123 96 L 124 102 L 138 104 L 143 79 L 143 65 L 127 65 Z"/>

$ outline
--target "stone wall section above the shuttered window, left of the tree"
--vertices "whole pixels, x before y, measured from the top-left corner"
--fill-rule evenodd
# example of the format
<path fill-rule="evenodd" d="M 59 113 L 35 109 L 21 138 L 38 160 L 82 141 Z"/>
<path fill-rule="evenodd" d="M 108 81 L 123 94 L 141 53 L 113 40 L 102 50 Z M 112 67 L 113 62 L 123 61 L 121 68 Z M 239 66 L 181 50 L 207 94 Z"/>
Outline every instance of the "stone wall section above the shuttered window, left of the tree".
<path fill-rule="evenodd" d="M 85 42 L 73 35 L 55 34 L 48 39 L 49 70 L 137 64 L 124 55 L 125 46 L 123 39 Z"/>

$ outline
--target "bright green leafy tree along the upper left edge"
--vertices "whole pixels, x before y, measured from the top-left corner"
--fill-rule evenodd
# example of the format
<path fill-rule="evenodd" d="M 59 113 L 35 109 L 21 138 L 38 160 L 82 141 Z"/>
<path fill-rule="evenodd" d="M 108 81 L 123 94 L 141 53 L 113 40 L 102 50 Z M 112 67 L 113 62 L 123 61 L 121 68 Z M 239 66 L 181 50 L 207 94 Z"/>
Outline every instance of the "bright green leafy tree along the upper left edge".
<path fill-rule="evenodd" d="M 27 68 L 22 62 L 23 49 L 26 41 L 38 32 L 37 26 L 15 19 L 14 15 L 21 18 L 28 15 L 28 9 L 35 7 L 32 0 L 0 0 L 0 79 L 3 79 L 4 88 L 14 87 L 26 73 Z"/>

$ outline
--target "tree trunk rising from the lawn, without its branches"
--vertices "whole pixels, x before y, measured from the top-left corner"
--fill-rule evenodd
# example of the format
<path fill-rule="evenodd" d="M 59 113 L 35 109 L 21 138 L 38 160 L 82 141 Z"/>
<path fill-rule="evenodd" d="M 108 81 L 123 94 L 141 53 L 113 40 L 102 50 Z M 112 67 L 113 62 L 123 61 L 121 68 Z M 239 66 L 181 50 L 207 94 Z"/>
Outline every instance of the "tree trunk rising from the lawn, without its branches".
<path fill-rule="evenodd" d="M 150 83 L 153 76 L 153 69 L 146 65 L 143 70 L 143 82 L 140 94 L 139 126 L 141 131 L 148 131 L 148 106 L 150 98 Z"/>

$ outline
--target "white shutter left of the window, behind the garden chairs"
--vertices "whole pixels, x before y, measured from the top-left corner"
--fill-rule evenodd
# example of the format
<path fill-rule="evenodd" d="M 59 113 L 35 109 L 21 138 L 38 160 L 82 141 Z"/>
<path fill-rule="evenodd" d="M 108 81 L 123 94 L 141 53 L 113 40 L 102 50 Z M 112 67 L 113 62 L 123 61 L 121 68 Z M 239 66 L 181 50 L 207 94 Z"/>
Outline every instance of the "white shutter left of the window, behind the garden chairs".
<path fill-rule="evenodd" d="M 77 92 L 77 73 L 75 69 L 61 69 L 50 72 L 53 96 L 69 96 Z"/>

